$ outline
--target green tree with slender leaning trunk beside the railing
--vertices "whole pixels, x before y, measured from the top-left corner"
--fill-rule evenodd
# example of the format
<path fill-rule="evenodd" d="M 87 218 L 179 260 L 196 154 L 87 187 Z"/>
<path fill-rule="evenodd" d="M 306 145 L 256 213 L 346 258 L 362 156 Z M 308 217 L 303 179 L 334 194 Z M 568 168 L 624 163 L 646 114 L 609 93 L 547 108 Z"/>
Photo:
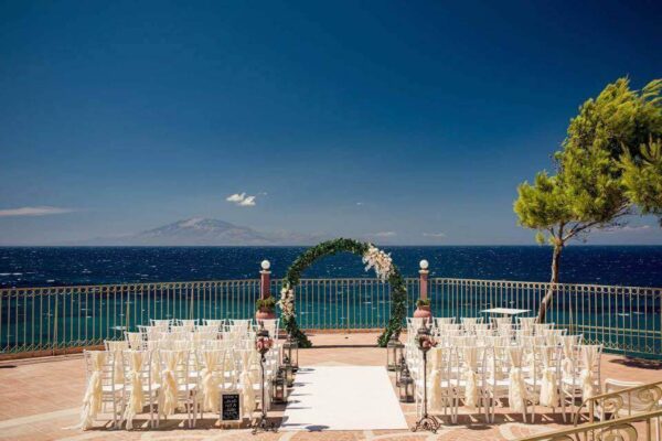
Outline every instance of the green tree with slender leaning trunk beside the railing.
<path fill-rule="evenodd" d="M 590 230 L 615 227 L 632 213 L 632 192 L 626 185 L 626 161 L 640 166 L 640 146 L 662 136 L 662 82 L 630 89 L 627 78 L 609 84 L 588 99 L 570 120 L 566 139 L 554 154 L 555 174 L 537 173 L 533 184 L 517 187 L 514 212 L 519 224 L 537 230 L 536 240 L 553 247 L 549 289 L 540 309 L 545 321 L 552 302 L 563 248 L 586 240 Z"/>

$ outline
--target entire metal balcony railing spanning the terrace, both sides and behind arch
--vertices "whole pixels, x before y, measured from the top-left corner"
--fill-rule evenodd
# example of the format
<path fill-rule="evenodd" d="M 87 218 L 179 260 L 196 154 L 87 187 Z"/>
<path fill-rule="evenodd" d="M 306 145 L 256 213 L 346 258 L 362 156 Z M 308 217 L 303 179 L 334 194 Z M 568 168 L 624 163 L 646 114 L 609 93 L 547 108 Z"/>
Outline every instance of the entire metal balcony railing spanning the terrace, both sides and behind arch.
<path fill-rule="evenodd" d="M 419 279 L 407 279 L 409 314 Z M 534 315 L 548 283 L 434 278 L 428 297 L 437 316 L 477 316 L 489 308 Z M 280 281 L 271 280 L 274 295 Z M 244 319 L 255 311 L 260 282 L 195 282 L 17 288 L 0 290 L 0 353 L 56 351 L 121 338 L 149 319 Z M 389 318 L 388 283 L 371 278 L 303 279 L 297 287 L 303 329 L 380 329 Z M 583 333 L 608 351 L 662 356 L 662 289 L 557 284 L 547 321 Z"/>

